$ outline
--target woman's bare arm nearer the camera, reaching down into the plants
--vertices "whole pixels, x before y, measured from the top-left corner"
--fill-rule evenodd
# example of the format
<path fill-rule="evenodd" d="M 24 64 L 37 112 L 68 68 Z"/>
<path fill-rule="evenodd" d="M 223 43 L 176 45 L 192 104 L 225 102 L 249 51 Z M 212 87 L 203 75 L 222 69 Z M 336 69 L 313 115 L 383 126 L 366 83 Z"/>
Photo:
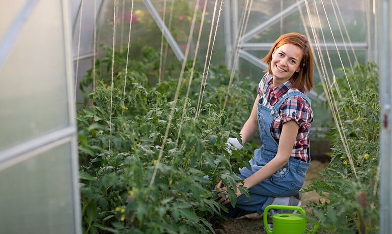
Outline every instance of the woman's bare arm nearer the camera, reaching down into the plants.
<path fill-rule="evenodd" d="M 298 134 L 298 129 L 299 126 L 297 122 L 295 122 L 294 120 L 288 121 L 285 124 L 283 124 L 281 138 L 279 139 L 279 145 L 277 148 L 276 156 L 271 161 L 269 161 L 265 166 L 263 166 L 260 170 L 258 170 L 256 173 L 252 174 L 250 177 L 244 180 L 243 186 L 245 188 L 250 189 L 251 187 L 259 184 L 260 182 L 270 177 L 278 169 L 286 165 L 286 163 L 290 159 L 291 151 L 293 150 L 295 139 Z M 241 185 L 242 185 L 241 183 L 237 184 L 237 186 L 241 186 Z M 226 196 L 224 195 L 226 189 L 227 189 L 226 187 L 217 188 L 217 192 L 219 196 L 221 197 Z M 240 195 L 241 192 L 237 188 L 237 197 Z M 230 202 L 230 200 L 226 199 L 226 197 L 222 197 L 219 200 L 219 202 L 222 202 L 222 204 L 227 204 Z"/>

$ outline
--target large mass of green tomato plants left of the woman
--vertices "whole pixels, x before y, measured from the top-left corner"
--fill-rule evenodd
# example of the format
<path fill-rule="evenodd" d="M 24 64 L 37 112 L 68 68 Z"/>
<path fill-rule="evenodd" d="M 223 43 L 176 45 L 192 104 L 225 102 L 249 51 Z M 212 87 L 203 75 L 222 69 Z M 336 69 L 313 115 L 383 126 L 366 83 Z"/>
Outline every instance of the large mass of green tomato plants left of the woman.
<path fill-rule="evenodd" d="M 239 136 L 254 101 L 251 91 L 256 91 L 257 85 L 236 77 L 223 110 L 230 74 L 224 67 L 212 67 L 201 114 L 194 118 L 201 72 L 195 71 L 186 99 L 188 64 L 181 98 L 173 102 L 178 78 L 169 73 L 167 79 L 152 86 L 149 80 L 158 75 L 159 55 L 148 47 L 143 54 L 143 61 L 128 65 L 124 85 L 126 52 L 115 52 L 113 101 L 109 49 L 96 63 L 96 89 L 86 89 L 94 80 L 92 70 L 81 83 L 86 103 L 91 103 L 77 114 L 83 231 L 213 231 L 207 220 L 225 208 L 214 200 L 212 187 L 220 180 L 226 185 L 236 184 L 239 178 L 233 171 L 246 166 L 253 155 L 246 153 L 253 151 L 251 145 L 242 151 L 233 149 L 230 155 L 225 143 L 229 136 Z M 158 162 L 172 107 L 169 137 Z M 157 174 L 152 183 L 155 167 Z M 229 193 L 235 196 L 234 191 Z"/>

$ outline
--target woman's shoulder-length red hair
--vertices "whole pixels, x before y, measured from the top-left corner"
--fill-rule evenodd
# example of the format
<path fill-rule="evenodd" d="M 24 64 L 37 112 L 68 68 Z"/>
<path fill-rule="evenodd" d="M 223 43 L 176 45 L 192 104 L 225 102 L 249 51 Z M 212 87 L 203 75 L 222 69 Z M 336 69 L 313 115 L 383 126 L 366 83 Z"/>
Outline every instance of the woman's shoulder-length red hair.
<path fill-rule="evenodd" d="M 267 69 L 264 72 L 269 72 L 272 75 L 271 61 L 272 53 L 275 49 L 283 46 L 284 44 L 293 44 L 299 46 L 302 51 L 302 60 L 299 64 L 300 70 L 294 72 L 290 78 L 293 83 L 293 88 L 298 89 L 302 92 L 311 91 L 313 88 L 313 54 L 312 48 L 306 36 L 299 33 L 288 33 L 280 36 L 274 43 L 268 54 L 262 58 L 261 61 L 268 64 Z"/>

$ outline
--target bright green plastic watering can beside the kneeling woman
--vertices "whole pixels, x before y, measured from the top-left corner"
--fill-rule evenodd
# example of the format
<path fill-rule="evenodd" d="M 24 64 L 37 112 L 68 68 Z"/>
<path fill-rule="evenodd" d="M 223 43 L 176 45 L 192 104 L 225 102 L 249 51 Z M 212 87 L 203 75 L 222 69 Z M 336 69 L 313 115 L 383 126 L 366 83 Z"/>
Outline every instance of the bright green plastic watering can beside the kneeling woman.
<path fill-rule="evenodd" d="M 291 210 L 299 211 L 300 214 L 276 214 L 272 217 L 272 227 L 270 230 L 267 223 L 268 211 L 274 210 Z M 268 234 L 302 234 L 302 233 L 316 233 L 319 225 L 316 224 L 313 229 L 306 232 L 307 220 L 305 211 L 300 207 L 295 206 L 281 206 L 281 205 L 269 205 L 264 210 L 264 227 Z"/>

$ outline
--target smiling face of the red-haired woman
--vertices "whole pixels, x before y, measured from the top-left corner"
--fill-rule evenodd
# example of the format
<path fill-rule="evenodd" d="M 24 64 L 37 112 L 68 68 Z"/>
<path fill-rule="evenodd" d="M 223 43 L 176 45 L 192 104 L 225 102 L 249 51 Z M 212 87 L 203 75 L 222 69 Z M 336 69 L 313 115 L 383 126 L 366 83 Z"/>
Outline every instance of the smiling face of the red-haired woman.
<path fill-rule="evenodd" d="M 300 70 L 302 55 L 301 47 L 294 44 L 284 44 L 275 49 L 271 61 L 274 84 L 283 84 Z"/>

